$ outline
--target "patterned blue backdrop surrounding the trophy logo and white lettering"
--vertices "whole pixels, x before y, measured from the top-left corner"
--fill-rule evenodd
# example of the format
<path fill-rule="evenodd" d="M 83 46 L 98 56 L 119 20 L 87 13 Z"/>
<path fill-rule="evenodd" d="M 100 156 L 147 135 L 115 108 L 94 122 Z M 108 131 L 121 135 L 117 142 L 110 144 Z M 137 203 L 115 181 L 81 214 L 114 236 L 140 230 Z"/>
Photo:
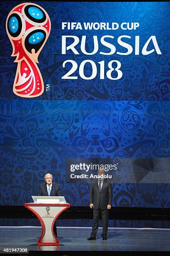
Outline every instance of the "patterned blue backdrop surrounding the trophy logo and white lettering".
<path fill-rule="evenodd" d="M 34 3 L 50 14 L 52 27 L 39 64 L 44 84 L 50 84 L 50 90 L 45 88 L 37 99 L 19 99 L 13 93 L 16 67 L 5 22 L 16 2 L 1 3 L 0 203 L 24 205 L 31 202 L 31 195 L 36 195 L 39 184 L 44 182 L 44 174 L 50 172 L 60 184 L 67 202 L 72 206 L 88 206 L 90 184 L 65 182 L 66 159 L 124 158 L 127 164 L 130 158 L 145 161 L 170 158 L 170 5 L 167 2 Z M 42 15 L 39 9 L 33 8 L 29 13 L 38 19 Z M 15 17 L 14 21 L 17 24 Z M 139 22 L 140 26 L 135 31 L 61 29 L 62 22 L 77 21 Z M 10 22 L 12 28 L 13 19 Z M 123 50 L 117 44 L 117 38 L 123 34 L 131 36 L 127 38 L 133 46 L 130 55 L 104 56 L 99 51 L 90 56 L 75 55 L 72 51 L 61 54 L 62 35 L 87 36 L 86 51 L 90 52 L 94 48 L 94 35 L 98 39 L 103 35 L 114 36 L 116 49 Z M 156 36 L 161 55 L 141 54 L 151 35 Z M 135 36 L 140 36 L 140 55 L 134 53 Z M 106 51 L 98 41 L 100 51 Z M 152 46 L 148 46 L 148 50 L 151 49 Z M 80 51 L 80 44 L 77 51 Z M 99 73 L 92 80 L 61 79 L 70 69 L 69 65 L 62 67 L 67 59 L 76 61 L 78 67 L 85 59 L 96 64 L 115 59 L 122 64 L 123 76 L 114 81 L 106 76 L 100 79 Z M 88 65 L 85 75 L 91 75 Z M 112 205 L 170 207 L 170 184 L 113 184 Z"/>

